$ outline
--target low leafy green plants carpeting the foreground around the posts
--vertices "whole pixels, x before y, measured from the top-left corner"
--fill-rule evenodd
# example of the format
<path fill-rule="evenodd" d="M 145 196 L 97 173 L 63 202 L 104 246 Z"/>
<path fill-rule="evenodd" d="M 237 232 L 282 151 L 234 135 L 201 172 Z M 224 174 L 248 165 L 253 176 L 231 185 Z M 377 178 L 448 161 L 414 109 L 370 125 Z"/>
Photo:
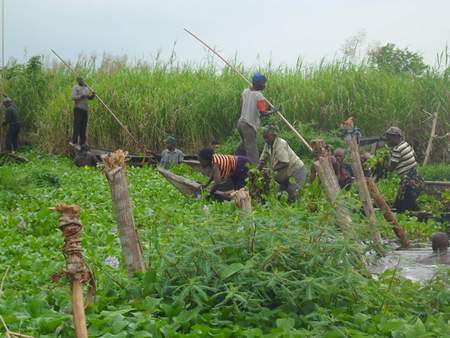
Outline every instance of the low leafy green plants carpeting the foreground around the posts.
<path fill-rule="evenodd" d="M 65 264 L 57 215 L 49 210 L 63 201 L 82 207 L 82 245 L 98 286 L 97 302 L 86 310 L 91 337 L 411 338 L 450 332 L 448 272 L 425 284 L 392 270 L 378 278 L 369 274 L 365 261 L 373 251 L 352 191 L 345 198 L 354 211 L 355 239 L 347 241 L 317 186 L 308 186 L 294 206 L 269 197 L 255 205 L 252 218 L 241 220 L 233 203 L 184 198 L 154 169 L 129 168 L 149 265 L 148 273 L 129 281 L 101 171 L 76 168 L 63 157 L 27 156 L 30 163 L 0 167 L 0 314 L 13 331 L 73 337 L 69 287 L 49 280 Z M 387 194 L 395 186 L 384 181 L 381 188 Z M 377 218 L 384 237 L 392 238 Z M 424 238 L 445 227 L 407 216 L 401 222 Z M 117 270 L 105 263 L 110 256 L 119 258 Z"/>

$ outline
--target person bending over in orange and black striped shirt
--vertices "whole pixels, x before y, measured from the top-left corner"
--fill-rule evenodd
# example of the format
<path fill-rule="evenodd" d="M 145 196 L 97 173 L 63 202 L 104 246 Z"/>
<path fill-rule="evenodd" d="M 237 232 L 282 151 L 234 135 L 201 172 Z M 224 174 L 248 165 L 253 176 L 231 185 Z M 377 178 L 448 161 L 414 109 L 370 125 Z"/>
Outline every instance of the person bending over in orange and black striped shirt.
<path fill-rule="evenodd" d="M 210 193 L 216 190 L 239 190 L 245 186 L 248 175 L 249 159 L 245 156 L 214 154 L 211 148 L 200 150 L 198 154 L 200 165 L 210 169 L 210 177 L 203 188 L 207 188 L 212 182 Z"/>

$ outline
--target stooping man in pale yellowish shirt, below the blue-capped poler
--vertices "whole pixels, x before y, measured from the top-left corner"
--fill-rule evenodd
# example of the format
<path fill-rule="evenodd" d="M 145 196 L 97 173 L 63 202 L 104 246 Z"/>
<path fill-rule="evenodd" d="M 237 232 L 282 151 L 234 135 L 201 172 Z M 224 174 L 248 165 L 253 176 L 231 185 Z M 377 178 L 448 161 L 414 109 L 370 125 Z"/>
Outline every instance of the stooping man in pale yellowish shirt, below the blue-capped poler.
<path fill-rule="evenodd" d="M 270 160 L 280 192 L 286 191 L 288 202 L 294 203 L 300 189 L 305 184 L 305 165 L 289 147 L 289 144 L 278 137 L 276 126 L 266 126 L 263 136 L 266 144 L 259 159 L 258 169 L 262 169 L 267 160 Z"/>

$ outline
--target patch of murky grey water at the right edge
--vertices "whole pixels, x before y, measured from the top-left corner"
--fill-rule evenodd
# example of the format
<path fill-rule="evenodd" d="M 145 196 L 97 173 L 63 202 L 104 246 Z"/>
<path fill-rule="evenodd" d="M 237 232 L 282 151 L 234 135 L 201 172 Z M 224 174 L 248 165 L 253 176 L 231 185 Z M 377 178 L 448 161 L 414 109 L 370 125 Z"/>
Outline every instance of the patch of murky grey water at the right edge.
<path fill-rule="evenodd" d="M 448 265 L 437 264 L 436 260 L 432 260 L 431 264 L 421 262 L 432 254 L 431 248 L 393 251 L 371 265 L 369 271 L 373 274 L 380 274 L 387 269 L 398 269 L 397 273 L 400 276 L 413 281 L 424 282 L 433 278 L 439 267 L 450 268 Z"/>

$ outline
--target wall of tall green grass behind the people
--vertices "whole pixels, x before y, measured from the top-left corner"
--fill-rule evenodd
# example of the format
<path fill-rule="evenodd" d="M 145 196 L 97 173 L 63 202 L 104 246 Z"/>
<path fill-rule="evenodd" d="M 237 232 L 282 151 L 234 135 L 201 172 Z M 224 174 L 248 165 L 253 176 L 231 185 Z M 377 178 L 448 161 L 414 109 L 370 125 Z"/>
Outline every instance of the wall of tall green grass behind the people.
<path fill-rule="evenodd" d="M 97 62 L 98 64 L 98 62 Z M 211 139 L 233 133 L 239 117 L 240 94 L 245 87 L 232 71 L 212 64 L 194 66 L 124 59 L 81 58 L 76 68 L 150 149 L 160 150 L 166 135 L 194 150 Z M 241 67 L 242 68 L 242 67 Z M 242 69 L 249 75 L 252 69 Z M 439 111 L 438 133 L 448 130 L 450 80 L 448 72 L 430 71 L 421 77 L 380 72 L 365 64 L 336 61 L 314 67 L 261 69 L 269 79 L 265 95 L 283 110 L 307 137 L 335 130 L 348 116 L 367 136 L 379 135 L 390 125 L 404 129 L 421 154 L 429 126 L 425 111 Z M 73 75 L 61 65 L 10 65 L 4 89 L 18 103 L 31 142 L 50 152 L 64 152 L 72 124 Z M 110 114 L 91 101 L 89 143 L 103 147 L 137 147 Z M 308 127 L 305 127 L 308 126 Z M 438 141 L 434 159 L 442 159 Z M 298 143 L 299 151 L 304 151 Z"/>

